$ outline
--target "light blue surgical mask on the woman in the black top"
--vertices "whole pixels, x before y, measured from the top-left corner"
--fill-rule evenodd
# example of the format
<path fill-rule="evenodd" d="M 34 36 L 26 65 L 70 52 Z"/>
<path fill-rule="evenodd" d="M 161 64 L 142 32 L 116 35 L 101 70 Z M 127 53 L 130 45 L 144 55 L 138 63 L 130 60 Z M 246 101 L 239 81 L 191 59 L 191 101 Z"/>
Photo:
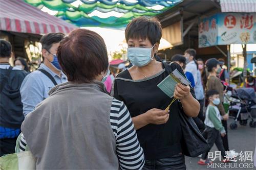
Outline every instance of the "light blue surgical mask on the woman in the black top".
<path fill-rule="evenodd" d="M 153 45 L 153 47 L 154 46 L 155 45 Z M 127 50 L 127 58 L 133 65 L 143 67 L 154 59 L 154 56 L 151 58 L 152 48 L 130 47 Z"/>

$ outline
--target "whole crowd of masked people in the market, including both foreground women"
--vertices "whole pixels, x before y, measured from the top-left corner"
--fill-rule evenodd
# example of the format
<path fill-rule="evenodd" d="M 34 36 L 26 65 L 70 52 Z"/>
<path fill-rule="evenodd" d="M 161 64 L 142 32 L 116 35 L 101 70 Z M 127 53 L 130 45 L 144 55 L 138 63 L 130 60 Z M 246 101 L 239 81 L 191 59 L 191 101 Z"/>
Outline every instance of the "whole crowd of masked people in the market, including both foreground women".
<path fill-rule="evenodd" d="M 186 169 L 185 155 L 212 163 L 216 143 L 227 162 L 224 62 L 204 63 L 194 49 L 159 61 L 161 37 L 157 19 L 132 20 L 132 66 L 118 72 L 102 37 L 86 29 L 42 36 L 44 60 L 33 72 L 22 58 L 10 65 L 11 44 L 1 39 L 1 156 L 15 152 L 18 138 L 16 152 L 31 151 L 38 169 Z M 157 85 L 175 69 L 191 84 L 178 83 L 174 101 Z"/>

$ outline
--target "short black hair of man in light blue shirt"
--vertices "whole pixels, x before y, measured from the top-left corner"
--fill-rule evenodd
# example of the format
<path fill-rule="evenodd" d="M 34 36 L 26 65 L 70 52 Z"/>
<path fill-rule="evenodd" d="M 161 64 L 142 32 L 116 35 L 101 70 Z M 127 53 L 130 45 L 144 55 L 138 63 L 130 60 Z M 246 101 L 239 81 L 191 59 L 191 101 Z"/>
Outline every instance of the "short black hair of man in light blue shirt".
<path fill-rule="evenodd" d="M 65 37 L 63 33 L 49 33 L 41 37 L 42 49 L 50 50 L 52 44 L 60 42 Z"/>

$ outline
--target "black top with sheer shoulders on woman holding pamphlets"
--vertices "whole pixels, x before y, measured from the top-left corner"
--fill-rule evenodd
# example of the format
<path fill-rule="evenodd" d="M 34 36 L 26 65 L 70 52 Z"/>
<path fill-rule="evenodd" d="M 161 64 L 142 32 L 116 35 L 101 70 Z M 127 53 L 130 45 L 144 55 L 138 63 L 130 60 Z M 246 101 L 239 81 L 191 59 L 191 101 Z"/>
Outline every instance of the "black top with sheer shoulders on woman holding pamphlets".
<path fill-rule="evenodd" d="M 173 98 L 169 98 L 157 87 L 168 76 L 163 64 L 162 66 L 163 70 L 158 74 L 141 80 L 132 80 L 128 70 L 116 77 L 112 93 L 114 98 L 124 102 L 132 117 L 153 108 L 165 110 L 172 102 Z M 185 77 L 180 65 L 173 63 L 170 67 L 172 70 L 177 68 Z M 195 98 L 194 90 L 190 89 L 190 92 Z M 170 116 L 167 123 L 148 124 L 136 131 L 147 160 L 169 158 L 182 152 L 182 131 L 178 109 L 182 109 L 182 105 L 176 100 L 169 109 Z"/>

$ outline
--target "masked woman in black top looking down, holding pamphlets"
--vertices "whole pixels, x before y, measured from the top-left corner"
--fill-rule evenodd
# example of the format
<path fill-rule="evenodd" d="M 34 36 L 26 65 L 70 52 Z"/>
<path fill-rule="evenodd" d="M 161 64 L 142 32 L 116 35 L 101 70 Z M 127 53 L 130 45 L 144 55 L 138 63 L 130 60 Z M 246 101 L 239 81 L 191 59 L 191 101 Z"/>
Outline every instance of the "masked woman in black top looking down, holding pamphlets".
<path fill-rule="evenodd" d="M 186 169 L 179 111 L 183 109 L 187 116 L 196 117 L 200 105 L 192 88 L 178 84 L 174 96 L 179 100 L 165 111 L 173 98 L 157 85 L 168 76 L 166 65 L 185 75 L 178 64 L 164 65 L 155 60 L 161 36 L 160 22 L 154 18 L 139 17 L 127 25 L 127 57 L 133 66 L 116 77 L 112 95 L 124 102 L 132 116 L 146 157 L 143 168 Z"/>

